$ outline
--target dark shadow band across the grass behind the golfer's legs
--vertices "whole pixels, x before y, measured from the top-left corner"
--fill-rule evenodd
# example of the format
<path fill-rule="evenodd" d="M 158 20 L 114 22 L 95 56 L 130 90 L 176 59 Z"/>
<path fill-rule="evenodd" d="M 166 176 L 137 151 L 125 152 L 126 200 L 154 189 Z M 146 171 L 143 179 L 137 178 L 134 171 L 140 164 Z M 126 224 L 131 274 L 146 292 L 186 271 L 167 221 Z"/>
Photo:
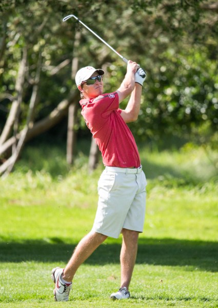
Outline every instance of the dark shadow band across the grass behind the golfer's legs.
<path fill-rule="evenodd" d="M 0 243 L 0 262 L 67 262 L 75 244 L 62 239 L 27 240 L 22 243 Z M 119 263 L 121 239 L 107 240 L 86 261 L 87 264 Z M 218 242 L 178 239 L 140 239 L 136 264 L 192 266 L 218 272 Z"/>

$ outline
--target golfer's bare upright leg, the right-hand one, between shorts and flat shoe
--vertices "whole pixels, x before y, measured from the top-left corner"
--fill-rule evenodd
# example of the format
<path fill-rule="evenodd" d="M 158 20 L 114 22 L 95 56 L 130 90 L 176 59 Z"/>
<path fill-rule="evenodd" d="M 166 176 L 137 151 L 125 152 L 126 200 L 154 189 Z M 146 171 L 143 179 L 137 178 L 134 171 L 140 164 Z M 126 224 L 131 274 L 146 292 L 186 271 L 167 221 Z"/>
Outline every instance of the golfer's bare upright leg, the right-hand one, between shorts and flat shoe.
<path fill-rule="evenodd" d="M 138 232 L 123 229 L 123 243 L 121 248 L 121 287 L 127 290 L 132 278 L 138 247 Z"/>

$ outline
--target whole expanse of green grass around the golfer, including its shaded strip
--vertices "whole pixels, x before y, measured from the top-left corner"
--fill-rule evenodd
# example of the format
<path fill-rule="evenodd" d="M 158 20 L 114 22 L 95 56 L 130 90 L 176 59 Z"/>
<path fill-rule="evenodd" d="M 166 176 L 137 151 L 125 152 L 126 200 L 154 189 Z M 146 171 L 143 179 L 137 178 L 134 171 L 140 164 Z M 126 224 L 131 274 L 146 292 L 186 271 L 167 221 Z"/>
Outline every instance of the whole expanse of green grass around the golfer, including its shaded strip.
<path fill-rule="evenodd" d="M 103 166 L 88 175 L 78 152 L 69 170 L 61 148 L 42 148 L 26 147 L 13 174 L 0 180 L 0 307 L 218 307 L 215 151 L 140 148 L 147 212 L 131 299 L 108 299 L 120 285 L 119 238 L 78 269 L 70 301 L 54 303 L 51 268 L 65 266 L 92 227 Z"/>

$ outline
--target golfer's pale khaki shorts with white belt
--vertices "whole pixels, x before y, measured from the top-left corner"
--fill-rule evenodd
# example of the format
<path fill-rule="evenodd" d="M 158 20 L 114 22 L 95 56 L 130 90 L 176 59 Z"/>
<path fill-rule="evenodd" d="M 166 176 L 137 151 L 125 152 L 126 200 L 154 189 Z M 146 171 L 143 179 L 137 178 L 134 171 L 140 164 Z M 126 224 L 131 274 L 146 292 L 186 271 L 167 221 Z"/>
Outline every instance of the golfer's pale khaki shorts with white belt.
<path fill-rule="evenodd" d="M 98 181 L 92 230 L 113 238 L 118 238 L 123 228 L 143 232 L 146 185 L 142 167 L 106 167 Z"/>

